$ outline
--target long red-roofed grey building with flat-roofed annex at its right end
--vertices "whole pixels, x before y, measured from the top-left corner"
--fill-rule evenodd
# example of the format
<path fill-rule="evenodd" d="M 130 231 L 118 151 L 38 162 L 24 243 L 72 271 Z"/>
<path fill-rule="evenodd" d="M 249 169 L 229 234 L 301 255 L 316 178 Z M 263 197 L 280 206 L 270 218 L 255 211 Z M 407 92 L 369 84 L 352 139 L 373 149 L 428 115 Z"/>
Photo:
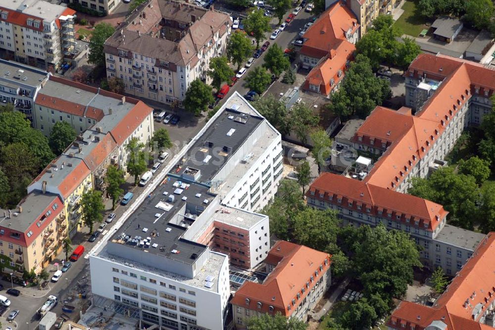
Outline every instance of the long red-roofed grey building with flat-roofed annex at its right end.
<path fill-rule="evenodd" d="M 410 234 L 421 247 L 421 262 L 453 276 L 485 237 L 446 224 L 442 205 L 345 176 L 322 173 L 306 194 L 309 206 L 339 212 L 345 225 L 376 226 Z"/>

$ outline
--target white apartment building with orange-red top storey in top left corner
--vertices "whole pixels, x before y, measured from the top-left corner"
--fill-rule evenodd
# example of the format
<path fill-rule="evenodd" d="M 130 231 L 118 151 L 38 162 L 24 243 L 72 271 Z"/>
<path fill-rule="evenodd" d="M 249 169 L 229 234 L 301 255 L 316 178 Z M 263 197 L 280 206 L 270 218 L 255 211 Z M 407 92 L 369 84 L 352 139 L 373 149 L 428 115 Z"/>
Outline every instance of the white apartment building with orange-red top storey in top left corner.
<path fill-rule="evenodd" d="M 76 11 L 43 0 L 0 1 L 0 55 L 58 71 L 75 50 Z"/>

